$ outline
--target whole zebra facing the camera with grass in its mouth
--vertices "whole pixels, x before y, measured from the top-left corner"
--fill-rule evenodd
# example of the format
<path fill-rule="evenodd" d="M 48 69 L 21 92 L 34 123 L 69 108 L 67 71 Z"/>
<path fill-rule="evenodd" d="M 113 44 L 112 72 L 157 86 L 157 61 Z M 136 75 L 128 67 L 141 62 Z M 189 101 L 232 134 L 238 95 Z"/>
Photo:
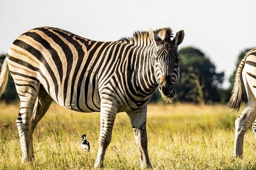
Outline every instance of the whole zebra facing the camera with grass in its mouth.
<path fill-rule="evenodd" d="M 172 98 L 179 81 L 178 46 L 183 30 L 135 32 L 133 37 L 101 42 L 59 28 L 23 33 L 11 45 L 2 65 L 0 94 L 9 71 L 20 98 L 17 118 L 22 162 L 34 158 L 32 135 L 54 100 L 78 112 L 100 112 L 99 151 L 94 167 L 102 167 L 116 114 L 126 112 L 140 154 L 147 151 L 147 104 L 157 86 Z"/>

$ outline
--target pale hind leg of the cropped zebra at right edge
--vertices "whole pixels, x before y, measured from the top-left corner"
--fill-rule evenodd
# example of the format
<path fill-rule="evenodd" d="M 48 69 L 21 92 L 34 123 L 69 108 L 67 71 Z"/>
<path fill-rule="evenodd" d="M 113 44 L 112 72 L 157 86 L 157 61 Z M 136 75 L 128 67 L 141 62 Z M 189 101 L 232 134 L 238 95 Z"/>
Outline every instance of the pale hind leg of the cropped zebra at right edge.
<path fill-rule="evenodd" d="M 244 135 L 256 117 L 254 105 L 255 101 L 249 101 L 242 114 L 235 121 L 234 157 L 242 157 L 243 155 Z"/>

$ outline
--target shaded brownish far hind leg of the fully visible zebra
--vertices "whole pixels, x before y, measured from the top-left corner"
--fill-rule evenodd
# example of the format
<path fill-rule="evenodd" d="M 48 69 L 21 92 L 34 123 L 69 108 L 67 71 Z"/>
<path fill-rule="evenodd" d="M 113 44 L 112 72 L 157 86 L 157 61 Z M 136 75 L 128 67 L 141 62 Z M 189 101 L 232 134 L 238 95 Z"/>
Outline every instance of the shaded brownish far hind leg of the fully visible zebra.
<path fill-rule="evenodd" d="M 41 85 L 36 99 L 36 104 L 33 111 L 33 116 L 31 118 L 30 130 L 29 130 L 29 155 L 34 159 L 34 149 L 33 149 L 33 132 L 36 128 L 37 123 L 42 119 L 42 117 L 47 112 L 53 99 L 44 87 Z"/>

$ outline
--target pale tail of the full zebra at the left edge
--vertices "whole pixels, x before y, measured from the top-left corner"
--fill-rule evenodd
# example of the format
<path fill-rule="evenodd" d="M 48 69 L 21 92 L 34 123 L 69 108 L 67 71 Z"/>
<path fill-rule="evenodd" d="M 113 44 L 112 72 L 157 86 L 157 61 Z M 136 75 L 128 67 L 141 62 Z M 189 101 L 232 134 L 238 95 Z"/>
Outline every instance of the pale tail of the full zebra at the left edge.
<path fill-rule="evenodd" d="M 2 96 L 7 86 L 8 76 L 9 76 L 9 67 L 7 64 L 7 57 L 5 57 L 3 65 L 1 67 L 1 72 L 0 72 L 0 97 Z"/>

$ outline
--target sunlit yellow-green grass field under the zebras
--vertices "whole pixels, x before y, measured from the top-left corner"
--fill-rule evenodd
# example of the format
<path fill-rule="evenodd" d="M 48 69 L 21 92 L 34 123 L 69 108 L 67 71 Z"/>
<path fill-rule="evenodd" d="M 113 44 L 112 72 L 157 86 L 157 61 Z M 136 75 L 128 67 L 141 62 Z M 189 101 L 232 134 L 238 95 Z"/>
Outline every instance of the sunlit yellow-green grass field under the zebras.
<path fill-rule="evenodd" d="M 93 169 L 99 113 L 77 113 L 53 103 L 34 132 L 35 161 L 22 164 L 15 124 L 18 109 L 18 104 L 0 104 L 0 169 Z M 149 105 L 148 151 L 153 169 L 256 169 L 252 131 L 245 134 L 243 159 L 233 158 L 238 115 L 225 105 Z M 90 141 L 90 152 L 81 147 L 83 133 Z M 119 113 L 104 169 L 139 168 L 129 117 Z"/>

